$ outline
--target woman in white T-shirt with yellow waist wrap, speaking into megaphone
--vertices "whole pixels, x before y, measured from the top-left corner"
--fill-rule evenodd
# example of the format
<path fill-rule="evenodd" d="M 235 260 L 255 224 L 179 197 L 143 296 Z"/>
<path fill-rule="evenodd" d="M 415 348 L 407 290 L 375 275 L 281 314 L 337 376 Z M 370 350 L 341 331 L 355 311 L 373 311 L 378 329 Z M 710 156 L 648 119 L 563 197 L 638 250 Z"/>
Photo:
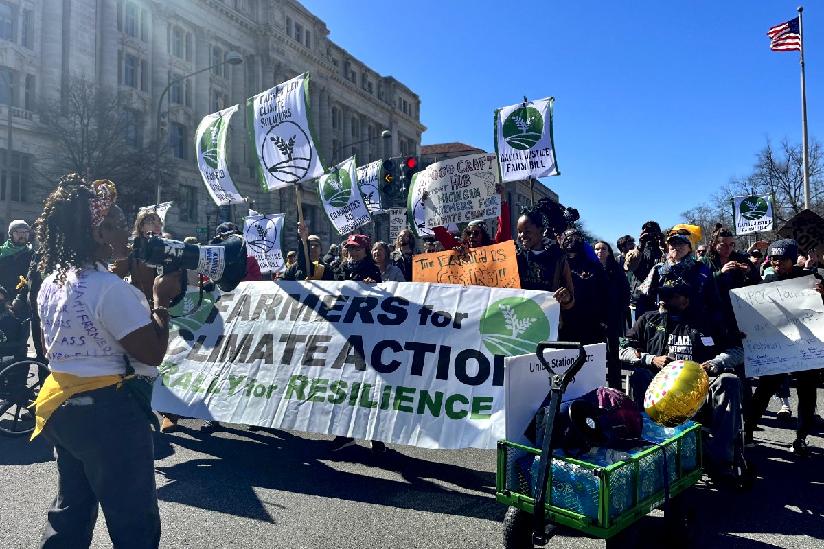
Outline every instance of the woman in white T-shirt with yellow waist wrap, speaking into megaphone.
<path fill-rule="evenodd" d="M 180 272 L 157 277 L 153 309 L 109 272 L 129 255 L 115 184 L 60 179 L 38 226 L 44 248 L 38 295 L 51 374 L 35 401 L 32 438 L 54 444 L 58 494 L 40 547 L 89 547 L 98 504 L 115 547 L 158 547 L 150 405 L 169 340 Z"/>

